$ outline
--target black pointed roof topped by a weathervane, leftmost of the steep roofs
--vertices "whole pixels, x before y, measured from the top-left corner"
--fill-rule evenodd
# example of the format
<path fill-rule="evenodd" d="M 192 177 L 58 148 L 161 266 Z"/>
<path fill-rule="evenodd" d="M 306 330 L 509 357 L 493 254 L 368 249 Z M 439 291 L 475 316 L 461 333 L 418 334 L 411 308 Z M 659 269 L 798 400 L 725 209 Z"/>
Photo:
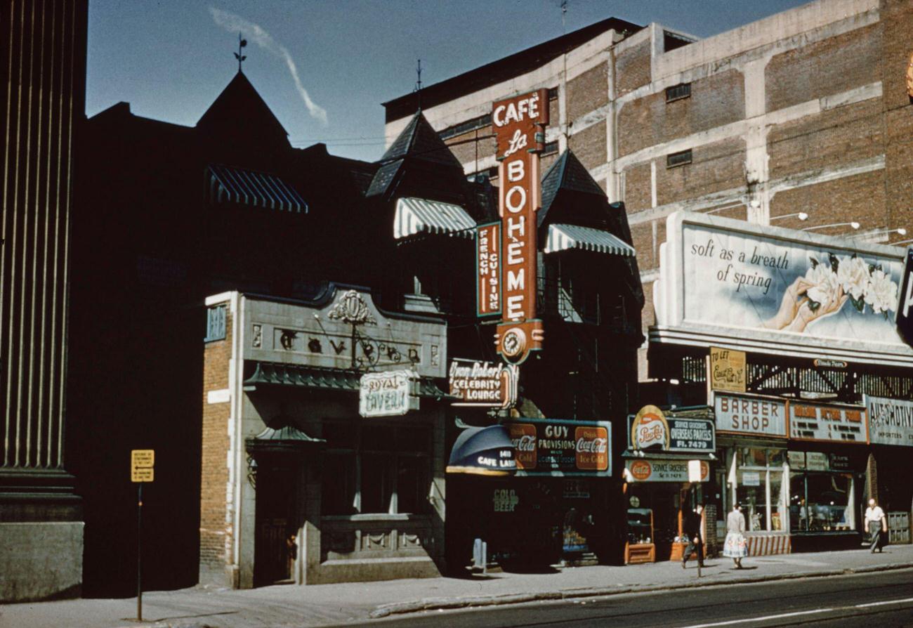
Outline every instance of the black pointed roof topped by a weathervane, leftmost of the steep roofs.
<path fill-rule="evenodd" d="M 256 129 L 258 134 L 268 135 L 273 141 L 289 143 L 289 132 L 241 72 L 231 79 L 196 122 L 198 129 L 212 131 L 239 126 L 241 129 Z"/>

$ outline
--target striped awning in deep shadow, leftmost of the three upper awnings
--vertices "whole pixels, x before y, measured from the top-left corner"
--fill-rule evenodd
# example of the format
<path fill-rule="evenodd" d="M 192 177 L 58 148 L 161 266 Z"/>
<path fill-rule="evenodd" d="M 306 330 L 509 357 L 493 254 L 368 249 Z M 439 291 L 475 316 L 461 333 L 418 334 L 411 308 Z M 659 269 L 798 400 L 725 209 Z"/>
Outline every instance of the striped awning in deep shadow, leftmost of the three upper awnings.
<path fill-rule="evenodd" d="M 266 207 L 290 214 L 307 214 L 308 204 L 289 183 L 275 174 L 210 165 L 206 186 L 212 203 Z"/>

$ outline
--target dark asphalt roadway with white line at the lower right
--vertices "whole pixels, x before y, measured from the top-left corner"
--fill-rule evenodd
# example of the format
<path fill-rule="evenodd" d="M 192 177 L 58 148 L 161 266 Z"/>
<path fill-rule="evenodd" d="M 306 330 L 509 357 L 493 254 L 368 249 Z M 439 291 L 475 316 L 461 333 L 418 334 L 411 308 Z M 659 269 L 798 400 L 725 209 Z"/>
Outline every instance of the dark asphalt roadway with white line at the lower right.
<path fill-rule="evenodd" d="M 534 602 L 463 612 L 425 612 L 385 625 L 403 628 L 474 626 L 606 626 L 715 628 L 770 626 L 913 625 L 913 571 L 826 579 L 714 586 L 638 593 L 574 602 Z M 374 625 L 364 623 L 360 625 Z"/>

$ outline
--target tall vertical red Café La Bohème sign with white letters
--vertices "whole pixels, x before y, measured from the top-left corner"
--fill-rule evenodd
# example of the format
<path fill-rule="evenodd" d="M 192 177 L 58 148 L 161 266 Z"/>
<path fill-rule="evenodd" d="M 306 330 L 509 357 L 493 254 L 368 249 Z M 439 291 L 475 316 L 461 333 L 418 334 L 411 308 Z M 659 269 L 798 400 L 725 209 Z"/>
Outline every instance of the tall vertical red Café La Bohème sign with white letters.
<path fill-rule="evenodd" d="M 495 345 L 501 357 L 514 364 L 542 348 L 542 323 L 536 319 L 536 212 L 541 206 L 539 153 L 548 123 L 547 89 L 498 100 L 491 111 L 502 182 L 498 191 L 502 280 L 497 282 L 501 294 L 493 298 L 491 278 L 479 272 L 480 304 L 489 304 L 480 307 L 479 313 L 496 312 L 490 304 L 501 301 Z M 490 227 L 480 229 L 488 229 L 490 237 Z"/>

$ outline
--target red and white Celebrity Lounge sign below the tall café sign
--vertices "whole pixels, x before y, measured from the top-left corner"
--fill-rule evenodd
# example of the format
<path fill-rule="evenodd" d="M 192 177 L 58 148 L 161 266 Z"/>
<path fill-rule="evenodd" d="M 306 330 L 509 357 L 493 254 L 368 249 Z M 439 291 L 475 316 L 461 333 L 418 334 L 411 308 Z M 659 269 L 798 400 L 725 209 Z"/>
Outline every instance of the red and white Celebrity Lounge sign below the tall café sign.
<path fill-rule="evenodd" d="M 453 405 L 509 408 L 517 401 L 518 367 L 487 361 L 454 359 L 450 363 Z"/>

